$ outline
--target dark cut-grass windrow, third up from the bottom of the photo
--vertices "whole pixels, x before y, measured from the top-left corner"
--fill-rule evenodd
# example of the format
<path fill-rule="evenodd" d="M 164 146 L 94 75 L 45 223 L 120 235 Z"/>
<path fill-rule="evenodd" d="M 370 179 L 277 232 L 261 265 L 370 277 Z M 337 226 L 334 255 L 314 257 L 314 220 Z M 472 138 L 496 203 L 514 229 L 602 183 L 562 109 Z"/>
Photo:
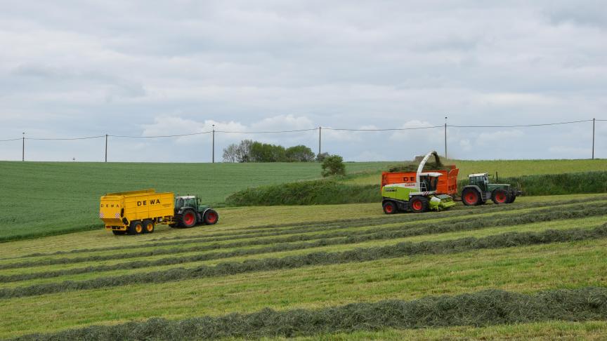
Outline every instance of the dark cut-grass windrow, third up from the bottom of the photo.
<path fill-rule="evenodd" d="M 551 220 L 561 219 L 573 219 L 573 218 L 585 218 L 589 216 L 604 215 L 607 214 L 607 208 L 589 208 L 587 210 L 573 211 L 573 212 L 555 212 L 537 214 L 529 213 L 528 215 L 519 215 L 512 218 L 502 218 L 495 220 L 488 220 L 477 218 L 474 220 L 464 220 L 461 222 L 443 222 L 439 225 L 422 225 L 421 227 L 413 227 L 408 229 L 385 229 L 379 231 L 359 231 L 367 232 L 367 234 L 355 234 L 353 232 L 337 232 L 332 234 L 331 238 L 318 239 L 313 242 L 304 243 L 271 243 L 270 246 L 265 248 L 242 248 L 231 250 L 223 253 L 203 253 L 200 255 L 190 256 L 179 256 L 162 258 L 159 260 L 136 260 L 133 262 L 123 262 L 115 265 L 97 265 L 89 267 L 80 267 L 74 269 L 63 269 L 50 272 L 30 272 L 22 274 L 4 275 L 0 276 L 0 283 L 13 282 L 13 281 L 27 281 L 30 279 L 42 279 L 52 278 L 58 276 L 67 276 L 72 274 L 85 274 L 91 272 L 106 272 L 119 269 L 141 269 L 144 267 L 157 267 L 164 265 L 177 265 L 188 262 L 200 262 L 204 260 L 216 260 L 221 258 L 232 258 L 244 255 L 260 255 L 263 253 L 275 253 L 290 250 L 303 250 L 306 248 L 318 248 L 321 246 L 334 246 L 334 245 L 345 245 L 362 243 L 365 241 L 374 240 L 386 240 L 386 239 L 398 239 L 407 236 L 421 236 L 425 234 L 440 234 L 448 232 L 459 232 L 459 231 L 470 231 L 474 229 L 482 229 L 489 226 L 502 226 L 502 225 L 522 225 L 530 222 L 546 222 Z M 313 237 L 313 236 L 310 236 Z"/>

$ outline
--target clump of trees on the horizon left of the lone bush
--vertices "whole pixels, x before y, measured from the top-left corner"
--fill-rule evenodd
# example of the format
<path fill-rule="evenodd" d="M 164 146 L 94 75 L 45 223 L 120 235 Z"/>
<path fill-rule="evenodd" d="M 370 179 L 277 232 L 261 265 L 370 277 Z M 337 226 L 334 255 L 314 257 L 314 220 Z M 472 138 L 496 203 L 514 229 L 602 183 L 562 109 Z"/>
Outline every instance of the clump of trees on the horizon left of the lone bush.
<path fill-rule="evenodd" d="M 312 149 L 304 145 L 285 148 L 253 140 L 242 140 L 223 149 L 224 162 L 311 162 L 315 157 Z"/>

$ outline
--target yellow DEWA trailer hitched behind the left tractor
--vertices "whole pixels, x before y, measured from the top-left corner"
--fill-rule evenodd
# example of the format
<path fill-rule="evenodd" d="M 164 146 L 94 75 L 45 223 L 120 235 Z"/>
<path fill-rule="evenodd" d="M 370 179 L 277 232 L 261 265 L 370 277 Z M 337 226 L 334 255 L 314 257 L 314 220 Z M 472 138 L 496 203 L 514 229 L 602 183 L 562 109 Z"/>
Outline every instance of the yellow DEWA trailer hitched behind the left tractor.
<path fill-rule="evenodd" d="M 99 218 L 114 234 L 154 232 L 158 223 L 170 224 L 174 217 L 174 194 L 154 189 L 108 193 L 101 196 Z"/>

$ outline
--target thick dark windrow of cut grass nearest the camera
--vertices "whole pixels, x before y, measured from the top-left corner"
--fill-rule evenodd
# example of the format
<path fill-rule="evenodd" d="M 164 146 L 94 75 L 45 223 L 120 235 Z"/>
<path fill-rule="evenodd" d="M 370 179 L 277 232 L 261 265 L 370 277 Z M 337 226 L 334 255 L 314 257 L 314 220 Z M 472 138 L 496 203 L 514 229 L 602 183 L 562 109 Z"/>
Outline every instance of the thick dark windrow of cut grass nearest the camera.
<path fill-rule="evenodd" d="M 15 340 L 215 340 L 224 337 L 297 337 L 385 328 L 492 326 L 540 321 L 607 319 L 607 288 L 547 290 L 532 295 L 483 290 L 419 300 L 359 302 L 322 309 L 202 316 L 171 321 L 149 319 L 89 326 Z"/>

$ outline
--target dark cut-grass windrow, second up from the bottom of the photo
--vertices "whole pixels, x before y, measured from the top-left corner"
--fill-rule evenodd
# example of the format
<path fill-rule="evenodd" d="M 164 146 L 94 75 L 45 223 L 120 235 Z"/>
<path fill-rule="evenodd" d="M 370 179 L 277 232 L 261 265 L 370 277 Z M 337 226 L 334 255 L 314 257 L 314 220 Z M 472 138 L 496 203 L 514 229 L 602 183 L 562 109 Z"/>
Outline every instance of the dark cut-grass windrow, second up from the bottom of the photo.
<path fill-rule="evenodd" d="M 157 272 L 137 273 L 122 276 L 106 276 L 86 281 L 63 281 L 44 283 L 0 290 L 0 298 L 44 295 L 71 290 L 86 290 L 126 286 L 136 283 L 164 283 L 199 279 L 211 276 L 229 276 L 247 272 L 276 269 L 294 269 L 311 265 L 332 265 L 348 262 L 365 262 L 384 258 L 397 258 L 417 254 L 458 253 L 483 248 L 505 248 L 528 246 L 542 243 L 580 241 L 607 237 L 607 224 L 594 229 L 546 230 L 543 232 L 509 232 L 483 238 L 466 237 L 448 241 L 403 242 L 390 246 L 357 248 L 342 252 L 317 252 L 306 255 L 292 255 L 284 258 L 246 260 L 244 262 L 223 262 L 215 266 L 202 265 L 190 269 L 172 268 Z"/>

